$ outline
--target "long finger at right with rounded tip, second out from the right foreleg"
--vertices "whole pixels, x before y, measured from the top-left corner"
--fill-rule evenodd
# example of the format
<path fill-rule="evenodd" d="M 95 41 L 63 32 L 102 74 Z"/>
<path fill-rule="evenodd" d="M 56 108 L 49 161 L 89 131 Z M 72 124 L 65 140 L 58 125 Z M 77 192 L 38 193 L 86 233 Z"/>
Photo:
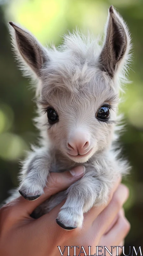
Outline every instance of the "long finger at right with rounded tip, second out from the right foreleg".
<path fill-rule="evenodd" d="M 102 236 L 105 233 L 105 231 L 107 230 L 109 225 L 111 225 L 117 213 L 122 208 L 125 201 L 127 200 L 128 196 L 129 196 L 128 188 L 125 185 L 120 184 L 117 190 L 115 191 L 109 205 L 94 220 L 93 232 L 95 232 L 95 230 L 97 230 L 98 228 L 100 236 Z M 99 223 L 100 223 L 100 227 L 99 227 Z"/>

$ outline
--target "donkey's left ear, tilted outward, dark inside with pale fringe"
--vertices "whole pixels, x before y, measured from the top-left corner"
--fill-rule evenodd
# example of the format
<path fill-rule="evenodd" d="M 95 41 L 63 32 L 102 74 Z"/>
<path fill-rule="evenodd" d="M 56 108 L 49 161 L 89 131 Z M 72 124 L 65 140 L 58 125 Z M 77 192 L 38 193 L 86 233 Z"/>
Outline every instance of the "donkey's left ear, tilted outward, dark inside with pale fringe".
<path fill-rule="evenodd" d="M 22 64 L 27 64 L 39 76 L 41 67 L 48 61 L 46 49 L 27 30 L 11 21 L 9 24 L 14 28 L 14 30 L 11 29 L 11 36 L 18 59 Z"/>

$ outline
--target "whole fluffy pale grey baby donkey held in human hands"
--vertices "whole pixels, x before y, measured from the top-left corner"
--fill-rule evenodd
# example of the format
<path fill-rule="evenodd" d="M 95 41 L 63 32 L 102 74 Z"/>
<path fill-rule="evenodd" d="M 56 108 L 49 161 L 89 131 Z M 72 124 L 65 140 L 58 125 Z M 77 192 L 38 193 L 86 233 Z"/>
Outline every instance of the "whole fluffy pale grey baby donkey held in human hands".
<path fill-rule="evenodd" d="M 110 6 L 102 46 L 89 33 L 76 31 L 51 49 L 10 25 L 20 67 L 38 82 L 35 122 L 41 135 L 40 147 L 33 147 L 23 163 L 19 193 L 35 200 L 44 193 L 49 172 L 84 165 L 80 180 L 32 214 L 39 218 L 66 198 L 56 222 L 64 229 L 81 228 L 83 214 L 106 203 L 113 182 L 128 170 L 114 146 L 119 88 L 130 57 L 128 28 Z"/>

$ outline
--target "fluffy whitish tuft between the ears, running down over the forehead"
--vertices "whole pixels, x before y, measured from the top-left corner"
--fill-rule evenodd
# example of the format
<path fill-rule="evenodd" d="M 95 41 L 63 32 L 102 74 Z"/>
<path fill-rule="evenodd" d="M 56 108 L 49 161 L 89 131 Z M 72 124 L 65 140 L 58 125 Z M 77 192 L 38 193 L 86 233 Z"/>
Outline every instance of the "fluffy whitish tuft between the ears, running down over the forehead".
<path fill-rule="evenodd" d="M 43 96 L 50 97 L 59 89 L 71 92 L 70 97 L 86 94 L 95 99 L 102 94 L 103 100 L 106 100 L 106 95 L 111 98 L 118 91 L 114 87 L 117 79 L 113 81 L 99 67 L 102 47 L 100 41 L 90 34 L 84 36 L 79 31 L 69 33 L 64 36 L 61 46 L 47 51 L 48 65 L 45 63 L 40 70 Z"/>

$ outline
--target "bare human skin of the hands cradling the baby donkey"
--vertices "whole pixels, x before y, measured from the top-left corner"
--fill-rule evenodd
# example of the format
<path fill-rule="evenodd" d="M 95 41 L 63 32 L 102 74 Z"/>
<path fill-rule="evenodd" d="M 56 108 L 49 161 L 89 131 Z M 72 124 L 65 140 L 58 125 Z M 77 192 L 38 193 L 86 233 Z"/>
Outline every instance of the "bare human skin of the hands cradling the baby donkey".
<path fill-rule="evenodd" d="M 57 225 L 56 217 L 64 202 L 37 220 L 30 217 L 39 204 L 51 195 L 68 188 L 84 175 L 82 166 L 78 166 L 72 171 L 50 173 L 48 186 L 44 189 L 45 193 L 37 200 L 30 202 L 19 196 L 0 209 L 0 255 L 58 256 L 61 253 L 57 246 L 60 246 L 62 252 L 64 246 L 79 246 L 79 249 L 76 248 L 76 255 L 79 255 L 81 246 L 84 246 L 87 252 L 88 246 L 91 246 L 91 254 L 94 254 L 96 246 L 107 246 L 111 249 L 110 246 L 124 244 L 130 224 L 124 216 L 122 207 L 129 192 L 126 186 L 120 184 L 120 178 L 110 192 L 108 204 L 94 206 L 84 214 L 82 229 L 76 228 L 67 231 Z M 119 248 L 119 254 L 121 252 L 122 250 Z M 66 247 L 64 255 L 67 254 Z M 70 255 L 74 255 L 74 248 L 71 249 Z M 112 255 L 116 255 L 115 250 Z"/>

